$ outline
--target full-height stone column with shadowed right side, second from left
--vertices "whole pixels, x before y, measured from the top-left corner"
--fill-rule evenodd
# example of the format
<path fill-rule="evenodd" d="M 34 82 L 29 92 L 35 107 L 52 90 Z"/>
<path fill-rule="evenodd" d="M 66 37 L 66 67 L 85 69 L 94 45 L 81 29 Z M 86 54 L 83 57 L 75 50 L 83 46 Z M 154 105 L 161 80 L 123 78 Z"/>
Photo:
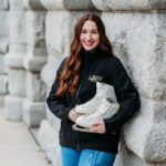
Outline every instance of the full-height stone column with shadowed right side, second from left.
<path fill-rule="evenodd" d="M 25 100 L 23 103 L 23 122 L 29 127 L 39 126 L 45 118 L 46 87 L 41 80 L 41 69 L 46 63 L 45 14 L 38 1 L 24 0 L 27 10 L 27 54 L 23 66 L 27 70 Z"/>

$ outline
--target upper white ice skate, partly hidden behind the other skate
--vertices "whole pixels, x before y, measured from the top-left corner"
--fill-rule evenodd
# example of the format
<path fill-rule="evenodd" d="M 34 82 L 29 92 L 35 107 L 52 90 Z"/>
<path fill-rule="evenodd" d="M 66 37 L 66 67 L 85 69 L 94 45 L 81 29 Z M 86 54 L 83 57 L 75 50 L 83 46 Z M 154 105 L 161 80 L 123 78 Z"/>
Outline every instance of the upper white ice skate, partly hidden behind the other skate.
<path fill-rule="evenodd" d="M 80 114 L 93 114 L 101 106 L 102 98 L 116 102 L 114 87 L 106 83 L 96 82 L 96 94 L 89 102 L 76 106 L 75 112 Z"/>

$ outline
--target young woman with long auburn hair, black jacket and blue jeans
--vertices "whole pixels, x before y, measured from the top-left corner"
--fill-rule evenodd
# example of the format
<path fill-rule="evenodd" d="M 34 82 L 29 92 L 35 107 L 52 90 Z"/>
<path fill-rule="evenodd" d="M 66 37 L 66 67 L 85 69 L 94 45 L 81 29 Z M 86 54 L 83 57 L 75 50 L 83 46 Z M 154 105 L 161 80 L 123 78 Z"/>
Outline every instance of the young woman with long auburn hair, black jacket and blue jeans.
<path fill-rule="evenodd" d="M 96 83 L 114 86 L 120 108 L 111 118 L 93 124 L 90 133 L 74 131 L 75 107 L 91 100 Z M 138 110 L 139 97 L 123 64 L 113 55 L 105 27 L 96 14 L 85 14 L 76 23 L 69 56 L 56 72 L 46 98 L 51 112 L 61 118 L 60 145 L 63 166 L 113 166 L 120 129 Z"/>

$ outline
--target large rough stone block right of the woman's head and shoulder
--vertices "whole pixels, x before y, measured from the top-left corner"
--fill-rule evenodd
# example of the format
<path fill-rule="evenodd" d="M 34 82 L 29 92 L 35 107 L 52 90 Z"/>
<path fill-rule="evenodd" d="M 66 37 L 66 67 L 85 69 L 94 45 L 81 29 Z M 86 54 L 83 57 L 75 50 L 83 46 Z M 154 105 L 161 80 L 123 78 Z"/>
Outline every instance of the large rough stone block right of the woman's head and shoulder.
<path fill-rule="evenodd" d="M 139 92 L 149 98 L 165 100 L 166 14 L 105 12 L 102 19 L 115 54 Z"/>

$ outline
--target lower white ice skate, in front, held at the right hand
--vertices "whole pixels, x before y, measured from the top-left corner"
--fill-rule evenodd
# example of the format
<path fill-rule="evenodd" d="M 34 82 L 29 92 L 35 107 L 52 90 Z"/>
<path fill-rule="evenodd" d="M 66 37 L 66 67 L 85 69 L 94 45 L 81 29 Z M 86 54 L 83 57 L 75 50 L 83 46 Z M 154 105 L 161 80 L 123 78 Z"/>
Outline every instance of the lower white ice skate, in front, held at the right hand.
<path fill-rule="evenodd" d="M 111 103 L 106 98 L 102 98 L 102 104 L 98 110 L 93 114 L 85 114 L 77 117 L 75 125 L 73 125 L 73 128 L 81 132 L 90 132 L 89 129 L 92 127 L 92 124 L 94 122 L 113 116 L 118 111 L 118 108 L 120 104 L 117 102 Z M 79 127 L 77 125 L 81 127 Z"/>

